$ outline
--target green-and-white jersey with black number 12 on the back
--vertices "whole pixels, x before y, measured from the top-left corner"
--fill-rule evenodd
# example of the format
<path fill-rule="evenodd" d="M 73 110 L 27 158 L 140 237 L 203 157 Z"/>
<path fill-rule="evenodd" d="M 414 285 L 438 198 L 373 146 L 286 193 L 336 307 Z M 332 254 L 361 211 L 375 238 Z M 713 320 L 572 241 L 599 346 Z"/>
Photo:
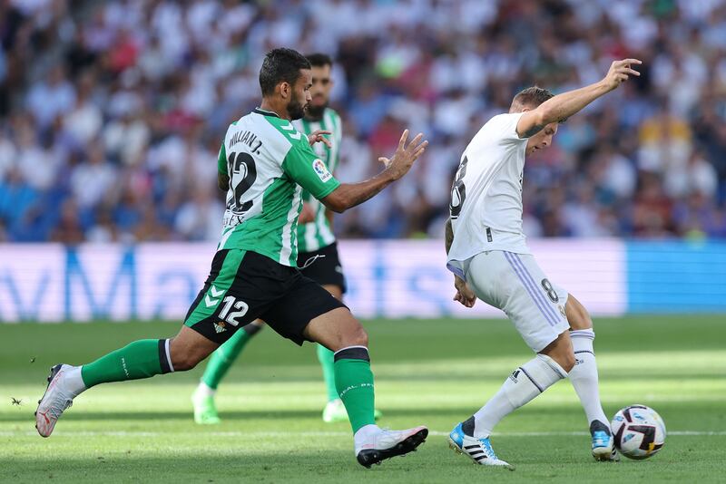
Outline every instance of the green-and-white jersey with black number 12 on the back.
<path fill-rule="evenodd" d="M 297 266 L 302 190 L 325 198 L 340 183 L 288 120 L 255 109 L 227 129 L 218 169 L 230 177 L 218 250 L 251 250 Z"/>

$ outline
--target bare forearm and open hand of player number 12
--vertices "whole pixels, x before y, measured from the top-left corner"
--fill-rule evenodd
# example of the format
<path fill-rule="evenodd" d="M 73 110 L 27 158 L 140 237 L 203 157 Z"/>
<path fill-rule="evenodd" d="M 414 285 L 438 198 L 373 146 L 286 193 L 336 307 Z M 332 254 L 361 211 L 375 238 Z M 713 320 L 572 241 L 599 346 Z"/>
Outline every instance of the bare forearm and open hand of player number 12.
<path fill-rule="evenodd" d="M 424 153 L 428 141 L 423 140 L 423 138 L 423 133 L 418 133 L 416 138 L 407 143 L 408 130 L 403 131 L 401 140 L 398 141 L 398 148 L 393 156 L 390 159 L 378 159 L 383 162 L 386 169 L 366 181 L 343 183 L 320 201 L 334 212 L 341 213 L 348 210 L 348 208 L 363 203 L 368 198 L 376 196 L 380 190 L 385 189 L 388 185 L 406 175 L 413 166 L 414 161 Z"/>

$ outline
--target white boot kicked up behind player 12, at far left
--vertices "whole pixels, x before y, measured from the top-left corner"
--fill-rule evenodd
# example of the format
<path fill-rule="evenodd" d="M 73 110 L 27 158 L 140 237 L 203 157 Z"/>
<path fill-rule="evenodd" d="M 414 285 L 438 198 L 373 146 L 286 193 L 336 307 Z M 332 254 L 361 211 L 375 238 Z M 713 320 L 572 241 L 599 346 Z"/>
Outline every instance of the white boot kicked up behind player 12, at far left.
<path fill-rule="evenodd" d="M 80 366 L 56 364 L 51 368 L 48 387 L 35 410 L 35 428 L 41 437 L 49 437 L 53 433 L 55 422 L 73 405 L 75 396 L 81 391 L 83 380 Z"/>

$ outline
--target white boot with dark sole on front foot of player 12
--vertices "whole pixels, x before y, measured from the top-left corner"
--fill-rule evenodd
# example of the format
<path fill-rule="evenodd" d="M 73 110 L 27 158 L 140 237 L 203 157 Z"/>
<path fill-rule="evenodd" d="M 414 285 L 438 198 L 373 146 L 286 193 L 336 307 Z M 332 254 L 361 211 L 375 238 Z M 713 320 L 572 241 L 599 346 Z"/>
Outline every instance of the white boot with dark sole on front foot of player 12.
<path fill-rule="evenodd" d="M 369 429 L 367 429 L 367 427 Z M 406 431 L 388 431 L 367 425 L 356 432 L 355 448 L 358 463 L 370 469 L 381 460 L 404 455 L 416 450 L 428 436 L 426 427 L 415 427 Z"/>

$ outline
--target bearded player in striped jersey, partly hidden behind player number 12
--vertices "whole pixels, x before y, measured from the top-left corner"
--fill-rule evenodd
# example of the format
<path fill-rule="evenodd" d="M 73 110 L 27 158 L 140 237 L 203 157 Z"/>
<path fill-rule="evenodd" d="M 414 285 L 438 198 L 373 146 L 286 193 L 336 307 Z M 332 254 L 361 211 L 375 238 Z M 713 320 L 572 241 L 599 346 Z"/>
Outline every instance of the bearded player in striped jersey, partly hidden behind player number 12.
<path fill-rule="evenodd" d="M 339 146 L 343 138 L 342 121 L 338 113 L 329 108 L 330 90 L 333 87 L 329 55 L 313 53 L 307 56 L 312 66 L 312 100 L 302 120 L 293 121 L 293 126 L 306 135 L 314 132 L 329 132 L 330 144 L 316 143 L 313 150 L 325 163 L 330 173 L 338 167 Z M 303 209 L 298 221 L 298 266 L 303 276 L 323 286 L 331 295 L 342 300 L 346 291 L 345 278 L 338 257 L 338 247 L 333 235 L 332 212 L 303 190 Z M 235 333 L 225 344 L 212 353 L 209 363 L 194 391 L 191 402 L 194 407 L 194 421 L 200 424 L 217 424 L 220 416 L 214 401 L 221 380 L 252 336 L 260 331 L 264 323 L 256 321 Z M 327 403 L 323 409 L 323 421 L 348 421 L 348 412 L 338 397 L 335 387 L 334 358 L 325 346 L 319 344 L 318 360 L 322 367 L 326 385 Z M 376 419 L 380 411 L 376 410 Z"/>

